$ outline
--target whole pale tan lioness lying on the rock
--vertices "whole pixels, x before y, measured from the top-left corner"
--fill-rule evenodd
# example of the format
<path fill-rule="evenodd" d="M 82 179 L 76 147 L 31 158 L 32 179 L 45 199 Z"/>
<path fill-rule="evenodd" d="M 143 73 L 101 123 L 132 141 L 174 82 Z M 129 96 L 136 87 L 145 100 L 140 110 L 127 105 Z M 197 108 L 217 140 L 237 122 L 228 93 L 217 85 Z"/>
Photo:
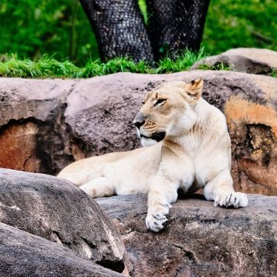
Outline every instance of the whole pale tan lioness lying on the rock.
<path fill-rule="evenodd" d="M 177 190 L 204 188 L 215 206 L 247 206 L 247 196 L 233 189 L 226 119 L 201 97 L 203 83 L 168 82 L 146 94 L 134 125 L 147 147 L 76 161 L 58 177 L 91 197 L 148 193 L 146 225 L 155 232 L 163 229 Z"/>

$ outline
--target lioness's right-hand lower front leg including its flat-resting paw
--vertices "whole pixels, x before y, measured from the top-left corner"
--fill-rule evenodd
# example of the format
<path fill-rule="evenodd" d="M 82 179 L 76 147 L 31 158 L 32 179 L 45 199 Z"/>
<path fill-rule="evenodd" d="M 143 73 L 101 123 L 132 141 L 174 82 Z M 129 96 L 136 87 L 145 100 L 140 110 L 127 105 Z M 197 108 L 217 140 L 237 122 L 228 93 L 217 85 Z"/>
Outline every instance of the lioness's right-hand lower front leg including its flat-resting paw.
<path fill-rule="evenodd" d="M 247 195 L 236 193 L 233 189 L 233 179 L 229 170 L 223 170 L 206 184 L 204 196 L 207 200 L 214 200 L 215 206 L 239 208 L 248 204 Z"/>

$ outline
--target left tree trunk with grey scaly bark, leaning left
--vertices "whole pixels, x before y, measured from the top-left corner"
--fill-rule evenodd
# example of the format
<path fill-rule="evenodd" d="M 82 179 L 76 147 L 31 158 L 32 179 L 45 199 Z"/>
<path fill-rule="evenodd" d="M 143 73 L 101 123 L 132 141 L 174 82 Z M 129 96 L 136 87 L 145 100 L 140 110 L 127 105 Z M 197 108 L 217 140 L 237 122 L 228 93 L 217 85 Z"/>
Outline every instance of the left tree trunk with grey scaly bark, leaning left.
<path fill-rule="evenodd" d="M 137 0 L 80 0 L 96 34 L 100 57 L 154 60 Z"/>

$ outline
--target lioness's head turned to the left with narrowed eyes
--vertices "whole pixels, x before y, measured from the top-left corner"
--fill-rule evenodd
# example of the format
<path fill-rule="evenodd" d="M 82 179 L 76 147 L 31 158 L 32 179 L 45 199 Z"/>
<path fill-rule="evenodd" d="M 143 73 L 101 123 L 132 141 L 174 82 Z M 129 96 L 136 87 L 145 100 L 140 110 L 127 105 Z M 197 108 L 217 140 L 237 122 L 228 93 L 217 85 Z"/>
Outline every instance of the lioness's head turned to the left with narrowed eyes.
<path fill-rule="evenodd" d="M 195 125 L 194 107 L 201 97 L 202 78 L 186 82 L 166 82 L 146 94 L 134 125 L 143 146 L 153 145 L 166 136 L 181 136 Z"/>

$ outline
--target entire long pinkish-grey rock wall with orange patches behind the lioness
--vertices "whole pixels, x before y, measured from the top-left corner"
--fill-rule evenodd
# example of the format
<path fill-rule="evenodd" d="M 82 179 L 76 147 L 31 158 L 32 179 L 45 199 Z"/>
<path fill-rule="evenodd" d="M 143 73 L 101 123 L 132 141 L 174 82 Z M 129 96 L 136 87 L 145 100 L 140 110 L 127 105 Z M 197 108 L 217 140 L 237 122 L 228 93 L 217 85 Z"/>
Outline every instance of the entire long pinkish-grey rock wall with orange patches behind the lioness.
<path fill-rule="evenodd" d="M 203 97 L 227 118 L 236 190 L 277 195 L 277 78 L 231 71 L 116 73 L 86 80 L 0 78 L 0 166 L 55 175 L 73 160 L 137 148 L 132 120 L 146 91 L 161 82 L 200 76 Z M 28 135 L 21 139 L 22 134 Z"/>

